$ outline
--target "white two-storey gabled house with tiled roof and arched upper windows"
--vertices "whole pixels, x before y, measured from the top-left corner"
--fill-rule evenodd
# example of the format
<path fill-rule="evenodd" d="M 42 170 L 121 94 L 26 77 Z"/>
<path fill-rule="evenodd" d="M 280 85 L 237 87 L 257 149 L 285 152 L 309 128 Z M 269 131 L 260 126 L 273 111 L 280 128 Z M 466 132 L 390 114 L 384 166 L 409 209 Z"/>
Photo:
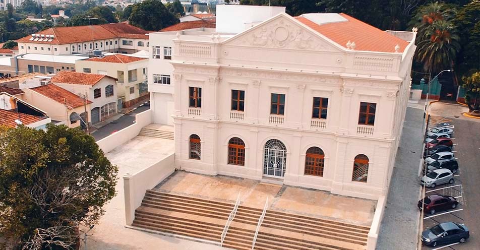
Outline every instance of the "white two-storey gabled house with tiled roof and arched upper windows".
<path fill-rule="evenodd" d="M 116 81 L 107 75 L 62 71 L 50 83 L 90 100 L 88 122 L 93 125 L 117 113 Z"/>

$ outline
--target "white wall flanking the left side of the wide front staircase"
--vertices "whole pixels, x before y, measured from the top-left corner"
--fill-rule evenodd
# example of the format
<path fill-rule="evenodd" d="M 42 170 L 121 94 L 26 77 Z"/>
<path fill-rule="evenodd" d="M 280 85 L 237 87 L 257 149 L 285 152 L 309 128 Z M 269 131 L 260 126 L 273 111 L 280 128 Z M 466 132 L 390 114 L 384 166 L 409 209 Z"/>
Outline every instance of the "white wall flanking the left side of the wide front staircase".
<path fill-rule="evenodd" d="M 145 192 L 155 188 L 173 171 L 175 171 L 174 153 L 133 175 L 128 172 L 124 175 L 125 220 L 127 226 L 132 225 L 135 219 L 135 209 L 142 204 Z"/>

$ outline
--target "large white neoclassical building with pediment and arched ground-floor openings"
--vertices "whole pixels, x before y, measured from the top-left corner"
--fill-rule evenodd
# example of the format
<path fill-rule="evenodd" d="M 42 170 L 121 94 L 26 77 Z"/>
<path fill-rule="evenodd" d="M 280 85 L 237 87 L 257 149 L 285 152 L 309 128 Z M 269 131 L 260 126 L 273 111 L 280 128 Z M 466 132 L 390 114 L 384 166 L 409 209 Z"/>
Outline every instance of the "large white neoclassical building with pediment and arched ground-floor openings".
<path fill-rule="evenodd" d="M 173 39 L 176 167 L 386 196 L 415 32 L 333 13 L 224 22 L 241 7 L 217 8 L 228 26 Z"/>

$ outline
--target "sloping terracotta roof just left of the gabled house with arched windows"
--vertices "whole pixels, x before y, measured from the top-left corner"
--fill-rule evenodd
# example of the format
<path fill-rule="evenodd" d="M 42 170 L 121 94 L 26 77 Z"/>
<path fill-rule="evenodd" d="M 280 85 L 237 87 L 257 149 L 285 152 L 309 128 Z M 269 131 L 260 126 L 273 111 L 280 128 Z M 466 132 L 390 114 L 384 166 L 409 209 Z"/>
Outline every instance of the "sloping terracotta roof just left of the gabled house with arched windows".
<path fill-rule="evenodd" d="M 67 104 L 67 106 L 71 109 L 83 106 L 85 104 L 85 100 L 82 97 L 66 89 L 58 87 L 55 84 L 47 84 L 40 87 L 31 88 L 31 90 L 58 103 Z M 92 102 L 87 100 L 87 104 L 90 103 Z"/>

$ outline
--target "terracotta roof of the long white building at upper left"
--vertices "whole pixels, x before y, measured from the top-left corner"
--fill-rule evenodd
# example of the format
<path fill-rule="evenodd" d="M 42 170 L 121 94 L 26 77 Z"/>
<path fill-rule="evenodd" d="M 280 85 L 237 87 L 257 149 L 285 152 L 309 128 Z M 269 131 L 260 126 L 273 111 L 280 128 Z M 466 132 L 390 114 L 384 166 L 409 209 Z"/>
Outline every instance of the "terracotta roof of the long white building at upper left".
<path fill-rule="evenodd" d="M 145 38 L 148 31 L 137 28 L 127 23 L 114 23 L 102 25 L 86 25 L 76 27 L 53 27 L 36 34 L 54 35 L 51 41 L 30 41 L 32 36 L 26 36 L 17 40 L 17 42 L 25 43 L 42 43 L 42 44 L 70 44 L 76 42 L 88 42 L 92 40 L 104 40 L 121 38 L 123 36 L 133 36 L 125 38 Z M 123 35 L 123 36 L 122 36 Z"/>

